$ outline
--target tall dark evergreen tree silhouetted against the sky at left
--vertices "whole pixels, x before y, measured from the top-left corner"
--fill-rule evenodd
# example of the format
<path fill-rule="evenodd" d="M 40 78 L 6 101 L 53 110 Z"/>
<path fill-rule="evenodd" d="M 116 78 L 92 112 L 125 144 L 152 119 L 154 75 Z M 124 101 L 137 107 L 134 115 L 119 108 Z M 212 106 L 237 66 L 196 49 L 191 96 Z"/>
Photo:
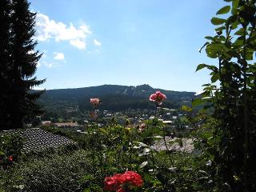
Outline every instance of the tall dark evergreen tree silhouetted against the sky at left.
<path fill-rule="evenodd" d="M 36 14 L 30 12 L 27 0 L 12 0 L 8 5 L 11 8 L 6 22 L 10 24 L 10 30 L 7 30 L 10 50 L 5 56 L 2 70 L 2 74 L 6 75 L 7 86 L 3 88 L 6 93 L 2 95 L 6 98 L 6 114 L 1 117 L 5 119 L 1 129 L 17 129 L 39 114 L 40 108 L 35 101 L 42 92 L 31 89 L 45 80 L 34 77 L 38 60 L 42 56 L 34 51 L 37 45 L 34 41 Z"/>

